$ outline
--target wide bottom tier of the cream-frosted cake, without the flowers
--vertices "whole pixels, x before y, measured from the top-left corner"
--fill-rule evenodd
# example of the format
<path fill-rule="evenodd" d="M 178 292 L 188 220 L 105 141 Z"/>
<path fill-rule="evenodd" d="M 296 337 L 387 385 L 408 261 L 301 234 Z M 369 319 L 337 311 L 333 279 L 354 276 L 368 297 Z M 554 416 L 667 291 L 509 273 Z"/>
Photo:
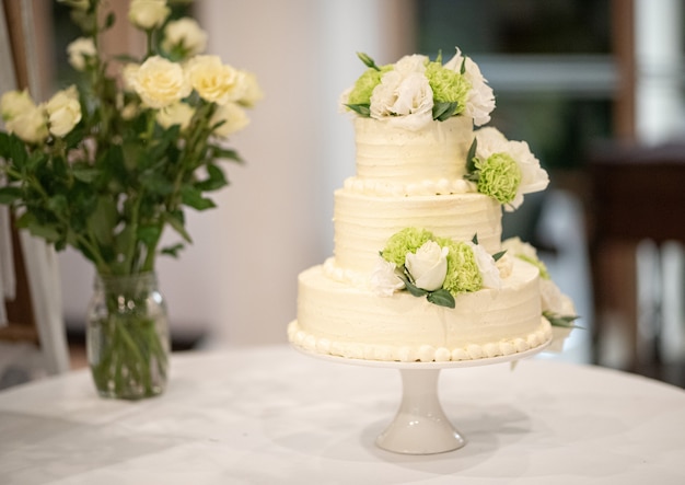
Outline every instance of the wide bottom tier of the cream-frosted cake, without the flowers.
<path fill-rule="evenodd" d="M 384 361 L 449 361 L 509 356 L 546 345 L 538 272 L 523 262 L 500 289 L 456 297 L 454 309 L 407 291 L 380 297 L 328 278 L 323 266 L 299 276 L 293 345 L 339 357 Z"/>

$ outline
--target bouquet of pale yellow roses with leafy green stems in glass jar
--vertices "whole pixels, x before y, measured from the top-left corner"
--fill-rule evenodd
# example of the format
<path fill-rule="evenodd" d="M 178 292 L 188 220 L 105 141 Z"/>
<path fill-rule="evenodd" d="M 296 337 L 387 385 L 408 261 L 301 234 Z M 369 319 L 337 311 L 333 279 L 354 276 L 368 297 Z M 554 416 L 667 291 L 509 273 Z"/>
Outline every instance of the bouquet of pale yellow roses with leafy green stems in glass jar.
<path fill-rule="evenodd" d="M 204 54 L 207 34 L 190 18 L 171 19 L 166 0 L 129 4 L 127 20 L 147 39 L 141 58 L 103 51 L 116 22 L 106 1 L 61 2 L 82 33 L 67 48 L 80 81 L 46 102 L 2 94 L 0 203 L 19 228 L 80 252 L 103 281 L 153 274 L 158 255 L 191 242 L 185 208 L 214 207 L 207 193 L 228 183 L 220 162 L 240 161 L 225 140 L 248 124 L 262 91 L 252 73 Z M 179 242 L 160 247 L 167 227 Z M 116 298 L 108 304 L 115 312 Z M 158 359 L 165 374 L 165 345 L 137 311 L 102 331 L 109 345 L 91 361 L 98 389 L 152 392 L 142 360 Z"/>

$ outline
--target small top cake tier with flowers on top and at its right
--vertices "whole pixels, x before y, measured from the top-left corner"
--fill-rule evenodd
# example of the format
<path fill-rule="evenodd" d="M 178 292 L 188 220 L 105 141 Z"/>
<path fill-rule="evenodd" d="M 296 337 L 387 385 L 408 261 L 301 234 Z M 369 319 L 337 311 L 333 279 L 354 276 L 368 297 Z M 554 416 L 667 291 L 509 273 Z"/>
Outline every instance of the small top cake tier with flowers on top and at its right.
<path fill-rule="evenodd" d="M 544 190 L 547 172 L 525 141 L 485 127 L 495 96 L 478 66 L 460 49 L 442 57 L 409 55 L 367 70 L 345 91 L 355 113 L 357 176 L 346 188 L 378 195 L 477 192 L 515 210 L 524 194 Z"/>

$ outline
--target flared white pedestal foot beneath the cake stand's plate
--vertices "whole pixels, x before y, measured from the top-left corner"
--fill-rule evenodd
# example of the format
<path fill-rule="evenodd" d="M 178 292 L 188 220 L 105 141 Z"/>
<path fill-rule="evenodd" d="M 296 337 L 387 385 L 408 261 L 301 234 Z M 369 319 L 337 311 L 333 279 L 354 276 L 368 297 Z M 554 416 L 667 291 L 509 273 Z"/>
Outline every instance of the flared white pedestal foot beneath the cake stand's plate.
<path fill-rule="evenodd" d="M 402 402 L 395 418 L 376 444 L 405 454 L 433 454 L 462 448 L 466 441 L 454 429 L 440 405 L 440 369 L 400 369 Z"/>

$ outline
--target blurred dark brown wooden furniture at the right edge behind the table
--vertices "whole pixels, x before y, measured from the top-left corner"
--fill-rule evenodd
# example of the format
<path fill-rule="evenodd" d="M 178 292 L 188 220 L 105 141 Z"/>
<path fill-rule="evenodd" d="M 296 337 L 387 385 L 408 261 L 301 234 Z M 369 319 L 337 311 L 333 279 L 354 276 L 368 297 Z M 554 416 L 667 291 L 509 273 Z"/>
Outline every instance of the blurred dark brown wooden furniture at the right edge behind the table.
<path fill-rule="evenodd" d="M 685 145 L 597 147 L 589 155 L 589 174 L 595 361 L 614 312 L 628 327 L 629 368 L 639 371 L 660 362 L 661 322 L 655 309 L 649 332 L 638 328 L 635 251 L 645 240 L 685 242 Z"/>

